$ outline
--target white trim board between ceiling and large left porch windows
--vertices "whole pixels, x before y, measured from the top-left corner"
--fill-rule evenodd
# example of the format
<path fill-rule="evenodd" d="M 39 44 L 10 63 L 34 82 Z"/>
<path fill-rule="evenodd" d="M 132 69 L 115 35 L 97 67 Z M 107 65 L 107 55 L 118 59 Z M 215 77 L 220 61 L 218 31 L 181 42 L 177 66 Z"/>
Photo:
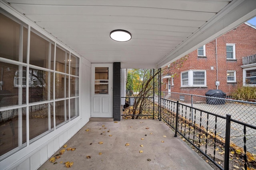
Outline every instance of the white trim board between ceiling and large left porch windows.
<path fill-rule="evenodd" d="M 30 27 L 34 28 L 36 31 L 39 31 L 42 35 L 50 39 L 51 41 L 56 42 L 60 47 L 68 50 L 70 53 L 76 55 L 77 57 L 82 57 L 80 54 L 76 53 L 73 49 L 66 46 L 62 41 L 58 40 L 56 37 L 54 37 L 52 34 L 50 34 L 48 31 L 37 25 L 34 21 L 30 20 L 26 16 L 24 16 L 22 13 L 20 13 L 18 10 L 14 9 L 10 4 L 0 0 L 0 7 L 3 8 L 6 12 L 10 13 L 14 17 L 18 18 L 22 22 L 26 23 L 27 25 L 30 25 Z M 87 59 L 86 59 L 87 60 Z M 90 61 L 88 61 L 90 63 Z"/>

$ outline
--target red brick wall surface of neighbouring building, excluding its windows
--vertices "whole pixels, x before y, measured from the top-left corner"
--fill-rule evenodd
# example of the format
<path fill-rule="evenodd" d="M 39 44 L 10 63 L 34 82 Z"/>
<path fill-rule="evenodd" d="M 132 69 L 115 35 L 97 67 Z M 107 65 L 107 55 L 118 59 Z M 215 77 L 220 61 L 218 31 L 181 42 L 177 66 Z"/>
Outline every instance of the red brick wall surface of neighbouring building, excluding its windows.
<path fill-rule="evenodd" d="M 226 43 L 236 44 L 236 61 L 228 61 L 226 59 Z M 218 89 L 230 95 L 238 86 L 242 86 L 242 57 L 254 54 L 256 54 L 256 29 L 246 24 L 242 24 L 236 29 L 218 37 L 218 81 L 220 81 Z M 211 66 L 214 67 L 214 70 L 211 70 Z M 190 69 L 206 70 L 206 88 L 181 88 L 180 72 Z M 236 70 L 236 83 L 227 83 L 227 70 Z M 216 89 L 216 40 L 214 39 L 206 44 L 206 58 L 199 58 L 197 50 L 192 51 L 188 54 L 188 59 L 184 61 L 182 67 L 171 67 L 169 70 L 164 70 L 164 74 L 167 72 L 169 72 L 169 74 L 177 74 L 174 76 L 174 86 L 171 87 L 171 92 L 205 95 L 208 90 Z M 163 79 L 162 91 L 168 91 L 168 89 L 166 89 L 167 83 L 167 79 Z"/>

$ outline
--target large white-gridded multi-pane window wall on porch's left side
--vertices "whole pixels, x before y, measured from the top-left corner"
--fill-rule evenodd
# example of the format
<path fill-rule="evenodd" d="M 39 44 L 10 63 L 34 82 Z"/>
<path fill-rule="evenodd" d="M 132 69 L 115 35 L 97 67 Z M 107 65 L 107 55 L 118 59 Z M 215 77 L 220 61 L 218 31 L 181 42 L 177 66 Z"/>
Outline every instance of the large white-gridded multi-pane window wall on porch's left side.
<path fill-rule="evenodd" d="M 0 25 L 1 161 L 79 116 L 80 58 L 3 10 Z"/>

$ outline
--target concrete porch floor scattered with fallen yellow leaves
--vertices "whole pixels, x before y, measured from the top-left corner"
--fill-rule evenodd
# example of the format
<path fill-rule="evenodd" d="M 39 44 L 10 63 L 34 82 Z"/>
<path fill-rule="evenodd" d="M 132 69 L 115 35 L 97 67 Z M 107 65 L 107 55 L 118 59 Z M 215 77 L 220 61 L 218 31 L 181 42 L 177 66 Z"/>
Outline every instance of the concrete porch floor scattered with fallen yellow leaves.
<path fill-rule="evenodd" d="M 130 145 L 126 146 L 126 143 Z M 62 170 L 66 168 L 64 162 L 67 161 L 74 162 L 70 169 L 76 170 L 212 169 L 182 139 L 174 137 L 174 132 L 167 125 L 158 120 L 133 119 L 117 123 L 89 121 L 66 145 L 66 149 L 72 147 L 76 150 L 65 150 L 55 161 L 58 162 L 56 164 L 48 159 L 39 170 Z M 65 148 L 59 149 L 54 155 L 62 149 Z"/>

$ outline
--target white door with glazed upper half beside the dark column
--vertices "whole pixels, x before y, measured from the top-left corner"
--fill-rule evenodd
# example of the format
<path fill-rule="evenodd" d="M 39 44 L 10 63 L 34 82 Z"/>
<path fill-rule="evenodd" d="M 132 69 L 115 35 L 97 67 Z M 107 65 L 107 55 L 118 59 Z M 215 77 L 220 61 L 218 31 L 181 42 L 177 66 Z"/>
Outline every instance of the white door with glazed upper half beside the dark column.
<path fill-rule="evenodd" d="M 92 117 L 113 117 L 112 64 L 92 64 Z"/>

